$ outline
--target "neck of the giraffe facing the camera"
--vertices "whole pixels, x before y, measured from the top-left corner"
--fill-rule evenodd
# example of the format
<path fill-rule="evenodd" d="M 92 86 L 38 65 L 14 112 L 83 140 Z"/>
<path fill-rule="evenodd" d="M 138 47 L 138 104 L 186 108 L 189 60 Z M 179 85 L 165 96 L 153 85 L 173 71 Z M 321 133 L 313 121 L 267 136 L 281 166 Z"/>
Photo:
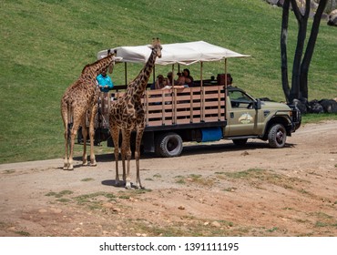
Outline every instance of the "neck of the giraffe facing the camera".
<path fill-rule="evenodd" d="M 148 56 L 148 61 L 139 72 L 138 76 L 133 80 L 133 85 L 130 88 L 132 89 L 132 93 L 136 94 L 138 97 L 141 97 L 144 91 L 147 89 L 148 78 L 152 73 L 153 66 L 155 66 L 157 53 L 155 49 L 152 49 L 151 55 Z"/>

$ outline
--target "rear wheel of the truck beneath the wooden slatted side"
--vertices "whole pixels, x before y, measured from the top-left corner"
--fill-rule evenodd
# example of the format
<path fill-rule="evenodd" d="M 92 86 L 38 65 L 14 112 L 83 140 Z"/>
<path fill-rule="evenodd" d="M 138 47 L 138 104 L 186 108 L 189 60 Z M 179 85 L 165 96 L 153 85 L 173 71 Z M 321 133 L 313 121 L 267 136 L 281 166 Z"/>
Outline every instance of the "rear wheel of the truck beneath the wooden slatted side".
<path fill-rule="evenodd" d="M 182 139 L 176 133 L 166 133 L 156 138 L 155 151 L 159 157 L 179 157 L 182 151 Z"/>

